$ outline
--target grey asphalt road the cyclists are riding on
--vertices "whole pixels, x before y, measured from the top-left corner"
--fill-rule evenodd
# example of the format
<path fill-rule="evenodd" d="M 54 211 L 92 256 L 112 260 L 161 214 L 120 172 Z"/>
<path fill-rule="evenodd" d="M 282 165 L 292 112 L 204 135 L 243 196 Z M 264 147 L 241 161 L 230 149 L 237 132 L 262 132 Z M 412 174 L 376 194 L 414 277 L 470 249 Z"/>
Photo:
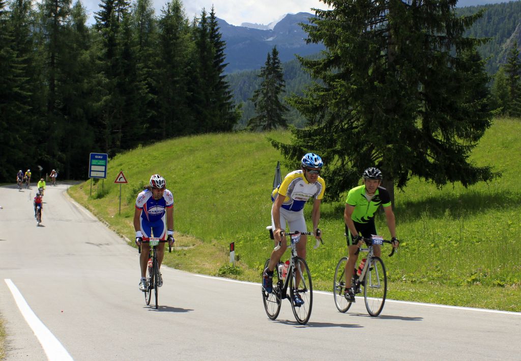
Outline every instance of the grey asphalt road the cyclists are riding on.
<path fill-rule="evenodd" d="M 0 187 L 7 360 L 521 360 L 518 312 L 388 300 L 373 318 L 363 299 L 341 314 L 315 292 L 301 326 L 289 302 L 269 320 L 258 283 L 166 267 L 159 309 L 148 307 L 137 251 L 66 188 L 47 187 L 36 227 L 35 187 Z"/>

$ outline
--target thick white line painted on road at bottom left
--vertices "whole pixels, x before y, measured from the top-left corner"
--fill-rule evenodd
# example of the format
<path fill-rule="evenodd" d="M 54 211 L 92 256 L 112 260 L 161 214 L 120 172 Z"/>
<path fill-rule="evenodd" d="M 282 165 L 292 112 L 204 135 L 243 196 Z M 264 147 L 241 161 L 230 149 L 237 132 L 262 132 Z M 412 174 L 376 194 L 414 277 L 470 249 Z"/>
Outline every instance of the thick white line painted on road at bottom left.
<path fill-rule="evenodd" d="M 57 361 L 69 361 L 73 360 L 71 355 L 65 350 L 65 347 L 56 339 L 56 337 L 49 331 L 43 322 L 34 314 L 33 310 L 27 304 L 18 288 L 15 284 L 9 280 L 4 279 L 5 283 L 9 287 L 13 298 L 15 299 L 16 305 L 20 310 L 23 318 L 26 319 L 29 327 L 33 330 L 36 338 L 40 341 L 40 344 L 47 355 L 49 360 Z"/>

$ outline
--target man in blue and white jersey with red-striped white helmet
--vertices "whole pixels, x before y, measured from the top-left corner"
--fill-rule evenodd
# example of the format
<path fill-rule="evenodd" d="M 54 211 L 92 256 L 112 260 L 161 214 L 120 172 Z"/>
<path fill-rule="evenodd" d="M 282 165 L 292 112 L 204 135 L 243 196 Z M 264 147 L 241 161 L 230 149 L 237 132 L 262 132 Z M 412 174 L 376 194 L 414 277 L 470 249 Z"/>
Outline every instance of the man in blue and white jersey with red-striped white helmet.
<path fill-rule="evenodd" d="M 148 285 L 146 283 L 146 268 L 148 262 L 148 254 L 150 253 L 150 245 L 142 243 L 143 240 L 149 240 L 150 237 L 157 237 L 161 240 L 168 240 L 172 245 L 173 239 L 173 195 L 166 189 L 165 178 L 159 174 L 150 177 L 150 184 L 138 195 L 135 200 L 134 212 L 134 230 L 135 243 L 141 246 L 140 267 L 141 280 L 139 289 L 146 291 Z M 165 255 L 165 244 L 159 243 L 157 246 L 157 261 L 159 267 L 163 262 Z M 163 277 L 159 273 L 158 286 L 163 285 Z"/>

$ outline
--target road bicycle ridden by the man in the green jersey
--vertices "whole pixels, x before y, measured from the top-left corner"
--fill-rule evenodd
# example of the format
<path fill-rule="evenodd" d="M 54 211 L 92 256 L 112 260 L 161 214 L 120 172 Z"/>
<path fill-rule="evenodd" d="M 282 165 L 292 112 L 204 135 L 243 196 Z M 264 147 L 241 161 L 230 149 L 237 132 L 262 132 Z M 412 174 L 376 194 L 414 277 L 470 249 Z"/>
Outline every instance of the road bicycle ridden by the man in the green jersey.
<path fill-rule="evenodd" d="M 361 293 L 360 287 L 364 287 L 364 301 L 365 307 L 369 315 L 376 317 L 380 315 L 383 305 L 386 302 L 387 296 L 387 272 L 386 267 L 380 257 L 374 255 L 373 245 L 382 245 L 383 243 L 391 243 L 390 240 L 383 239 L 380 236 L 373 235 L 371 238 L 363 239 L 367 248 L 359 248 L 356 251 L 367 252 L 365 264 L 358 276 L 356 272 L 351 279 L 351 289 L 353 294 Z M 391 257 L 394 254 L 395 248 L 392 249 Z M 345 293 L 345 264 L 348 262 L 348 257 L 342 257 L 337 264 L 334 271 L 333 280 L 333 296 L 334 304 L 340 312 L 345 312 L 351 307 L 350 301 L 344 297 Z"/>

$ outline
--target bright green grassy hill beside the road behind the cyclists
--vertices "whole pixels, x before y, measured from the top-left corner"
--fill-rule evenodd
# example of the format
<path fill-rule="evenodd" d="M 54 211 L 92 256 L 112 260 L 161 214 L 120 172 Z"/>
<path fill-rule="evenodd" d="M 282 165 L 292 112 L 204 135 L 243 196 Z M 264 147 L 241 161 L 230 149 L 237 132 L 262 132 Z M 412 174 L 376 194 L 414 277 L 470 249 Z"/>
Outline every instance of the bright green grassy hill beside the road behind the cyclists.
<path fill-rule="evenodd" d="M 160 173 L 175 198 L 178 248 L 166 256 L 166 264 L 260 282 L 273 247 L 265 230 L 270 192 L 276 163 L 283 160 L 266 136 L 282 140 L 289 134 L 212 134 L 134 149 L 109 161 L 103 191 L 102 182 L 93 182 L 91 196 L 87 181 L 69 193 L 133 244 L 135 197 L 151 174 Z M 437 189 L 413 179 L 396 192 L 402 243 L 398 254 L 384 257 L 389 298 L 521 311 L 519 159 L 521 122 L 496 119 L 472 161 L 492 164 L 501 178 L 467 189 L 460 184 Z M 119 186 L 112 182 L 121 170 L 129 184 L 122 186 L 119 214 Z M 288 171 L 282 169 L 282 176 Z M 316 289 L 331 290 L 334 267 L 346 252 L 343 207 L 343 199 L 324 204 L 320 228 L 326 244 L 317 250 L 308 244 Z M 310 210 L 306 207 L 307 219 Z M 383 216 L 377 225 L 389 236 Z M 237 267 L 229 265 L 230 242 L 235 242 Z"/>

